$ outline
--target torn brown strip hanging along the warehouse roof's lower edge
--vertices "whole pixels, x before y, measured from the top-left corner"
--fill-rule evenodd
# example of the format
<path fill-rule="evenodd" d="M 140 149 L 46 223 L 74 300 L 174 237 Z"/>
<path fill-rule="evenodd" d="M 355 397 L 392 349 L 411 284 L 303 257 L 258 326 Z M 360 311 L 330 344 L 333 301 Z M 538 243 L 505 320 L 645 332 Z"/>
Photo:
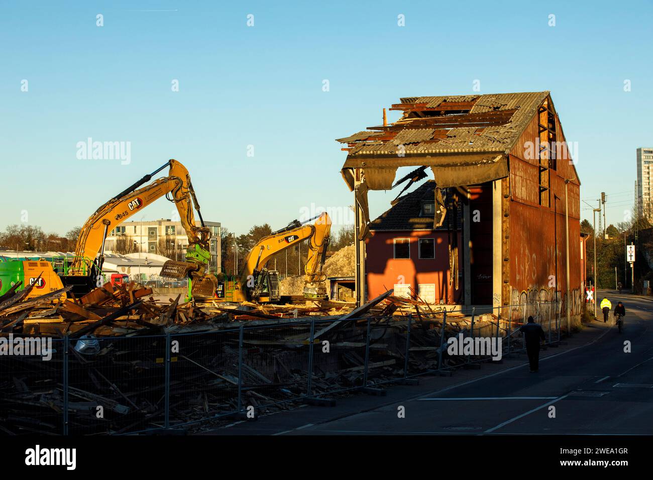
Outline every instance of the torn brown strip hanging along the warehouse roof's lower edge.
<path fill-rule="evenodd" d="M 508 176 L 507 154 L 503 152 L 447 153 L 397 157 L 383 155 L 361 158 L 347 157 L 341 173 L 351 191 L 354 189 L 353 168 L 362 168 L 365 183 L 370 190 L 392 188 L 399 167 L 427 165 L 431 168 L 439 188 L 475 185 L 499 180 Z"/>

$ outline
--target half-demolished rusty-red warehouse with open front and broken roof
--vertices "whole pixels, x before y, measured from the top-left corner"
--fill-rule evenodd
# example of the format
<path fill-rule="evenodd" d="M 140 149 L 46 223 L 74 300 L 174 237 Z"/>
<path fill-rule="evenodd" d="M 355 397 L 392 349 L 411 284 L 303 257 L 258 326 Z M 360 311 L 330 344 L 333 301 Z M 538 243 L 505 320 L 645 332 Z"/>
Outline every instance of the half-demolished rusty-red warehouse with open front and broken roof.
<path fill-rule="evenodd" d="M 394 288 L 519 318 L 512 305 L 560 300 L 579 321 L 581 183 L 549 92 L 406 97 L 392 109 L 400 120 L 338 140 L 357 205 L 358 301 Z M 417 168 L 395 182 L 399 167 Z M 423 183 L 372 221 L 368 192 L 404 182 Z"/>

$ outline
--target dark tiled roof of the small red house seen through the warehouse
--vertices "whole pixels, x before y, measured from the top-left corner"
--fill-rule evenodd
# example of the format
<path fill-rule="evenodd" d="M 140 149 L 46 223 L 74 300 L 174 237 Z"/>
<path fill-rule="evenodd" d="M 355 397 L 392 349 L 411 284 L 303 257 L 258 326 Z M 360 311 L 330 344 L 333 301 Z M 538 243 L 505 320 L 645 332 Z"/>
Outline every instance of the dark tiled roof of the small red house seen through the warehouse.
<path fill-rule="evenodd" d="M 392 230 L 433 230 L 433 216 L 422 217 L 422 202 L 434 202 L 436 182 L 428 180 L 420 185 L 417 189 L 400 197 L 400 202 L 381 214 L 377 219 L 370 223 L 371 231 L 392 231 Z M 443 195 L 445 191 L 442 192 Z M 451 204 L 451 196 L 445 199 L 447 205 Z M 451 214 L 451 210 L 447 213 Z M 449 222 L 445 221 L 441 227 L 436 230 L 447 230 Z M 460 218 L 458 218 L 458 228 L 460 229 Z"/>

